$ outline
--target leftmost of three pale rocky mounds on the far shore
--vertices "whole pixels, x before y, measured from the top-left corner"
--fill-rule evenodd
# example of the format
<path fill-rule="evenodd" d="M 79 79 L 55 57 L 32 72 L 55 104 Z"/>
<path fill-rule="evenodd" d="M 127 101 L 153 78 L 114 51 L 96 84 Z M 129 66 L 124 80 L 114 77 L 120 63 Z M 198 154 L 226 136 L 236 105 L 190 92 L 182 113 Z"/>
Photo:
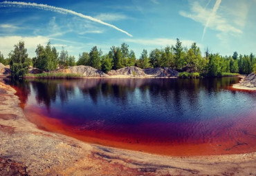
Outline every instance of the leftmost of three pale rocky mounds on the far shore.
<path fill-rule="evenodd" d="M 109 77 L 109 75 L 91 66 L 71 66 L 67 69 L 60 69 L 57 72 L 75 73 L 84 77 Z"/>

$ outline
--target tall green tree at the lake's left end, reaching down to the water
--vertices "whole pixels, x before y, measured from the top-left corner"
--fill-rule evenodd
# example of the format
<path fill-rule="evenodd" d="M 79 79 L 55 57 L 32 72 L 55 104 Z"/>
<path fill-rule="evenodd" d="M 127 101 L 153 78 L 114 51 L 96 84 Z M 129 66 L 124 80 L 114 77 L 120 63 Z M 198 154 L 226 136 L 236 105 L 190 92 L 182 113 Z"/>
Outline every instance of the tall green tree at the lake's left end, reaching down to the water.
<path fill-rule="evenodd" d="M 11 77 L 24 77 L 28 72 L 29 66 L 29 63 L 26 62 L 28 54 L 25 43 L 24 41 L 19 41 L 14 47 L 15 50 L 12 50 L 9 54 Z"/>

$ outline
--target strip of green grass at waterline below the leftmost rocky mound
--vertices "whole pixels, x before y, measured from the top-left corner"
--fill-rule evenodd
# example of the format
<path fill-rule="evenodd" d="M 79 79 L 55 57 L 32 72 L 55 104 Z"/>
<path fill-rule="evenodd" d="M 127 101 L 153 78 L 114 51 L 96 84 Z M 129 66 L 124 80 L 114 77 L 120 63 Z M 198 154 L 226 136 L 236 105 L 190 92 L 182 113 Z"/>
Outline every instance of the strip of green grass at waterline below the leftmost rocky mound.
<path fill-rule="evenodd" d="M 83 75 L 75 73 L 63 73 L 63 72 L 42 72 L 39 74 L 26 74 L 27 78 L 47 78 L 47 79 L 76 79 L 82 78 Z"/>

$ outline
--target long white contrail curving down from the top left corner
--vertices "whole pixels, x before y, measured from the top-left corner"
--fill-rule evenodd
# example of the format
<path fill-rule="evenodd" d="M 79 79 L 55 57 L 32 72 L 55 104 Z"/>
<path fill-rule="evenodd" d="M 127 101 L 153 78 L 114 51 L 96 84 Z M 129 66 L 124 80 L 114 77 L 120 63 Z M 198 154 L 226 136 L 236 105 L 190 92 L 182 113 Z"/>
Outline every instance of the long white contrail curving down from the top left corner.
<path fill-rule="evenodd" d="M 119 30 L 120 32 L 125 33 L 129 37 L 132 37 L 132 35 L 130 35 L 125 30 L 121 30 L 120 28 L 118 28 L 116 26 L 113 26 L 112 24 L 109 24 L 109 23 L 106 23 L 104 21 L 101 21 L 100 19 L 95 19 L 93 17 L 84 15 L 82 13 L 74 12 L 73 10 L 68 10 L 68 9 L 65 9 L 65 8 L 57 8 L 55 6 L 48 6 L 48 5 L 42 4 L 42 3 L 26 3 L 26 2 L 17 2 L 17 1 L 3 1 L 3 2 L 0 3 L 0 6 L 6 7 L 4 5 L 7 5 L 7 6 L 18 6 L 18 7 L 25 6 L 25 7 L 39 8 L 39 9 L 42 9 L 42 10 L 50 10 L 50 11 L 58 12 L 58 13 L 62 13 L 62 14 L 73 14 L 73 15 L 75 15 L 77 17 L 81 17 L 83 19 L 89 19 L 91 21 L 95 21 L 97 23 L 101 23 L 101 24 L 103 24 L 105 26 L 109 26 L 111 28 Z"/>

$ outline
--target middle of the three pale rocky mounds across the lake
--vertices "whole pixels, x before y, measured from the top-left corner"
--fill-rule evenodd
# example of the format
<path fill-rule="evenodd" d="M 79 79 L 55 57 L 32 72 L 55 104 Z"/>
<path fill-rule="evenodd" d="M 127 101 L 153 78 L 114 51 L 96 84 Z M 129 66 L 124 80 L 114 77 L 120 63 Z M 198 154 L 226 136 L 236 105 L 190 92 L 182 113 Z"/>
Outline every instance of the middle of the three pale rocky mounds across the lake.
<path fill-rule="evenodd" d="M 127 75 L 131 77 L 146 77 L 147 75 L 141 68 L 131 66 L 131 67 L 125 67 L 120 68 L 118 70 L 110 70 L 107 72 L 108 75 Z"/>

